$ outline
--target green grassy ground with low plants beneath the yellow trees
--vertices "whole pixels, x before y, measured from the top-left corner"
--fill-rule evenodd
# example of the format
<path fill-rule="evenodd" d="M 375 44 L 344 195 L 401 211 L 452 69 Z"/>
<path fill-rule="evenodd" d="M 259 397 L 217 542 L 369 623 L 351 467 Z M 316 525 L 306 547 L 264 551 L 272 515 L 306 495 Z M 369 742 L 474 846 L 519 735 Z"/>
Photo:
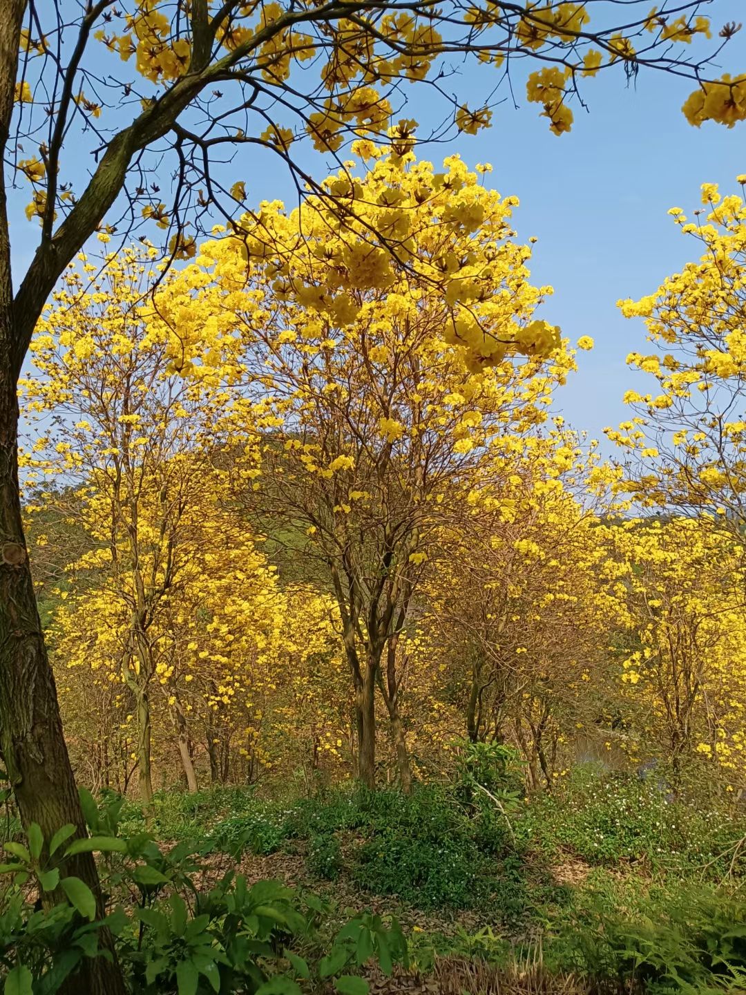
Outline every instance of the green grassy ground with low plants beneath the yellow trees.
<path fill-rule="evenodd" d="M 192 843 L 215 876 L 238 867 L 320 896 L 319 952 L 355 911 L 396 916 L 411 966 L 368 972 L 374 991 L 746 991 L 737 813 L 588 769 L 555 796 L 505 797 L 168 793 L 151 829 Z M 122 815 L 123 832 L 144 828 L 136 807 Z"/>

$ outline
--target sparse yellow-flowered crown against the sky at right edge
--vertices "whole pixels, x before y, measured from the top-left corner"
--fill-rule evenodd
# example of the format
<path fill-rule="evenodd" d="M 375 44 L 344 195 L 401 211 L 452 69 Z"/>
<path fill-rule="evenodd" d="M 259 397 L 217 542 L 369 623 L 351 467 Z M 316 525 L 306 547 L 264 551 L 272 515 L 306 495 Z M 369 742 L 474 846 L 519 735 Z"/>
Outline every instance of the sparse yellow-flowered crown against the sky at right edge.
<path fill-rule="evenodd" d="M 746 176 L 739 177 L 743 183 Z M 676 225 L 701 253 L 697 262 L 638 301 L 653 350 L 628 357 L 655 381 L 629 391 L 634 417 L 607 434 L 628 452 L 619 490 L 649 507 L 706 515 L 743 540 L 746 514 L 746 206 L 702 187 L 694 222 L 672 208 Z M 702 216 L 704 215 L 704 216 Z"/>

